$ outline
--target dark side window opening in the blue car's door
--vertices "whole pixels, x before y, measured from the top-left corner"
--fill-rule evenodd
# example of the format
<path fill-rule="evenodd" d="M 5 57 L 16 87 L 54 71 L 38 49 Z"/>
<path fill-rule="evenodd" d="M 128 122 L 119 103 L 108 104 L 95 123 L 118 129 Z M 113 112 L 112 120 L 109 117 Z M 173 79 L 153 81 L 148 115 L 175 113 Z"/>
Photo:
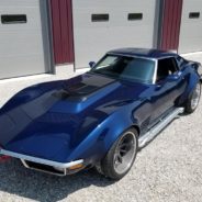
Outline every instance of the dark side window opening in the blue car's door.
<path fill-rule="evenodd" d="M 169 75 L 176 74 L 178 70 L 178 64 L 173 57 L 159 59 L 156 81 L 159 82 L 166 79 Z"/>

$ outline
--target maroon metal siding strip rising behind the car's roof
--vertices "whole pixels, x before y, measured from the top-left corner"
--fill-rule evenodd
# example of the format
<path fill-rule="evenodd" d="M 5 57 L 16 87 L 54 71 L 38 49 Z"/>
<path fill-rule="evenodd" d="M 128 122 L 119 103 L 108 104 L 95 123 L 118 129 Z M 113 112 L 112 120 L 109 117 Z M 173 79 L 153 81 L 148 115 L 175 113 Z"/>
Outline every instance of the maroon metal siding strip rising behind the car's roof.
<path fill-rule="evenodd" d="M 164 0 L 161 49 L 178 50 L 183 0 Z"/>

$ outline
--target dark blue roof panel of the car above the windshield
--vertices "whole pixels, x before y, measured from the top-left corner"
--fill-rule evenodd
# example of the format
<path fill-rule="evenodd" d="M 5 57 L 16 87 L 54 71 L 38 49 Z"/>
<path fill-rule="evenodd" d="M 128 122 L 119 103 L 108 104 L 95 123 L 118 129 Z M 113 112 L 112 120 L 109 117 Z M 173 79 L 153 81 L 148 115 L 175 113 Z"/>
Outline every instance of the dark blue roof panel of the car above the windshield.
<path fill-rule="evenodd" d="M 132 56 L 132 57 L 146 57 L 150 59 L 160 59 L 164 57 L 177 56 L 177 54 L 171 52 L 165 52 L 153 48 L 133 48 L 133 47 L 113 49 L 108 52 L 108 54 Z"/>

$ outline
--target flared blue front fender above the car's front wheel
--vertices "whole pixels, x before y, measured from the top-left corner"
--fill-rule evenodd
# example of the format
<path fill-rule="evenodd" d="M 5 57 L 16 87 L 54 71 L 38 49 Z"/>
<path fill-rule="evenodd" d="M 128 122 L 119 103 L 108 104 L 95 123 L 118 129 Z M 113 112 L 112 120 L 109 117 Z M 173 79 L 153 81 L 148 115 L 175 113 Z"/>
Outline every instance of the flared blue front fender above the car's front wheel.
<path fill-rule="evenodd" d="M 93 165 L 101 160 L 120 135 L 134 124 L 130 110 L 127 113 L 125 109 L 114 112 L 77 146 L 67 161 L 82 158 Z"/>

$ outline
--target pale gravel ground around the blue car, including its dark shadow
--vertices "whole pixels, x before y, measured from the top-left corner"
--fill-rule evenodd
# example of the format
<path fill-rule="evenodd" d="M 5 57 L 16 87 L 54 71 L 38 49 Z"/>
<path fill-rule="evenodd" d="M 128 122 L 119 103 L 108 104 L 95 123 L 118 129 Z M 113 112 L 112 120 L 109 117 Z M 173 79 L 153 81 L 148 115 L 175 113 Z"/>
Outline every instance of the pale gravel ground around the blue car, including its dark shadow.
<path fill-rule="evenodd" d="M 63 76 L 64 77 L 64 76 Z M 0 106 L 44 76 L 0 83 Z M 0 164 L 0 202 L 201 202 L 202 103 L 191 115 L 175 120 L 142 149 L 130 173 L 109 181 L 94 169 L 65 178 L 25 169 L 15 159 Z"/>

